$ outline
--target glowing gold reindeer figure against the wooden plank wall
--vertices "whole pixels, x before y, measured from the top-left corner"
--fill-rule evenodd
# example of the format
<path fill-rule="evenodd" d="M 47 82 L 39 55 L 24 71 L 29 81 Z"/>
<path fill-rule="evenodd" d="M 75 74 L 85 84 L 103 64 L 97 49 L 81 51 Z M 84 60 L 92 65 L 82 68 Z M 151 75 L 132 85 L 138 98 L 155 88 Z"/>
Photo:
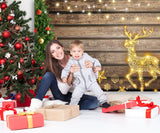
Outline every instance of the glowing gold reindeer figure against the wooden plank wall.
<path fill-rule="evenodd" d="M 145 83 L 146 87 L 148 87 L 151 82 L 157 79 L 156 73 L 160 74 L 159 60 L 156 57 L 149 55 L 139 57 L 137 56 L 135 51 L 135 44 L 138 43 L 137 39 L 147 37 L 151 35 L 152 32 L 153 30 L 149 30 L 147 33 L 147 31 L 143 28 L 143 35 L 140 35 L 139 33 L 133 36 L 131 32 L 127 31 L 127 27 L 124 26 L 124 34 L 129 38 L 124 41 L 124 46 L 128 49 L 128 64 L 130 66 L 130 72 L 126 75 L 126 78 L 134 88 L 137 88 L 137 85 L 133 83 L 131 79 L 131 75 L 134 73 L 138 73 L 141 85 L 140 91 L 144 90 L 143 72 L 149 72 L 153 77 L 151 80 Z"/>

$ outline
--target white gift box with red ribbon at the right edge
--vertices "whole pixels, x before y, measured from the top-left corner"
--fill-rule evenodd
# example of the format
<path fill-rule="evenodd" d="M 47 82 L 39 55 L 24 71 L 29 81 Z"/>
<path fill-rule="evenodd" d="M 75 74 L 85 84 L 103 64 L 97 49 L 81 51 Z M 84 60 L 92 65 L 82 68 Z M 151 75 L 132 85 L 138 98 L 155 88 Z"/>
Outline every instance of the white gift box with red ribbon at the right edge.
<path fill-rule="evenodd" d="M 125 117 L 127 118 L 154 118 L 159 114 L 159 107 L 133 107 L 125 109 Z"/>

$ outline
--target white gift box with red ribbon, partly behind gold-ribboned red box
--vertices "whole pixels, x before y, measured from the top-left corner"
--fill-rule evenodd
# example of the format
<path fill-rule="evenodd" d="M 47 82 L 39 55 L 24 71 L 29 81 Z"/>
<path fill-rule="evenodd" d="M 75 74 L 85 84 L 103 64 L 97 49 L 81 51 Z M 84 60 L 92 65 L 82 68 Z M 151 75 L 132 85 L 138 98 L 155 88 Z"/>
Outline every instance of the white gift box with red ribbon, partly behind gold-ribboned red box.
<path fill-rule="evenodd" d="M 0 108 L 0 118 L 2 121 L 6 120 L 6 116 L 10 114 L 18 114 L 19 112 L 23 112 L 22 108 Z"/>

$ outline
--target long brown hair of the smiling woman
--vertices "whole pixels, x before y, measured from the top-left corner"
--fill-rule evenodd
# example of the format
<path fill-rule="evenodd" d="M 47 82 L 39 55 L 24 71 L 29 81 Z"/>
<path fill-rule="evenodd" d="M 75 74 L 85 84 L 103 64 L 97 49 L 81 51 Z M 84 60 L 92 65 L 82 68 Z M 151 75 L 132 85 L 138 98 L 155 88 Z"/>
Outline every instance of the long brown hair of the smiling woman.
<path fill-rule="evenodd" d="M 58 63 L 58 60 L 53 58 L 50 52 L 50 47 L 53 43 L 63 47 L 63 45 L 57 40 L 51 40 L 46 47 L 46 60 L 45 60 L 45 72 L 52 72 L 57 79 L 61 80 L 61 72 L 63 67 Z"/>

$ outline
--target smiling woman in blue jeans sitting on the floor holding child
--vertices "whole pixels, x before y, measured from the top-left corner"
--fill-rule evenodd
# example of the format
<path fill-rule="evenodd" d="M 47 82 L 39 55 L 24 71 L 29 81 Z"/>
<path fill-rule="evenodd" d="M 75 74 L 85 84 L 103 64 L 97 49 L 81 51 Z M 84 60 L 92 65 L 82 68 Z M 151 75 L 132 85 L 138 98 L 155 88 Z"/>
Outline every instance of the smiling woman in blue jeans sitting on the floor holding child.
<path fill-rule="evenodd" d="M 51 89 L 55 100 L 70 102 L 73 72 L 79 71 L 80 68 L 76 65 L 72 65 L 67 83 L 62 83 L 60 79 L 61 71 L 66 66 L 69 58 L 70 55 L 64 52 L 64 47 L 59 41 L 52 40 L 48 43 L 46 47 L 45 74 L 39 85 L 36 97 L 31 100 L 29 110 L 36 110 L 42 106 L 42 99 L 49 89 Z M 85 67 L 93 67 L 93 64 L 90 61 L 86 61 Z M 83 95 L 79 102 L 79 106 L 80 109 L 83 110 L 95 109 L 99 106 L 99 102 L 94 96 Z"/>

